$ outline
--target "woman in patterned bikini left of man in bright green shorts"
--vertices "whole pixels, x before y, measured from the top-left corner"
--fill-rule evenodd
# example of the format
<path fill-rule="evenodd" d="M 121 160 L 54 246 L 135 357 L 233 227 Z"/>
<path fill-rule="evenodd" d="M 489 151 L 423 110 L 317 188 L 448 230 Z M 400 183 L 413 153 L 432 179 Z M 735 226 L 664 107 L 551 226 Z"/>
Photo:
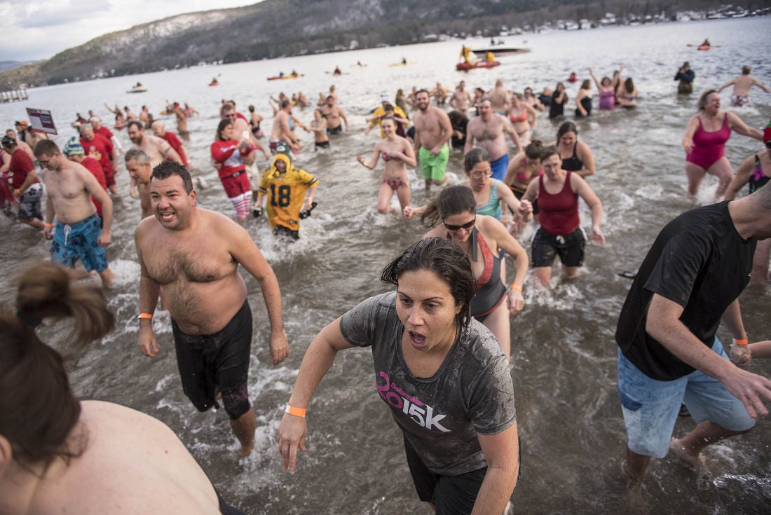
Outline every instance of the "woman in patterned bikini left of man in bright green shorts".
<path fill-rule="evenodd" d="M 385 161 L 385 174 L 380 183 L 378 193 L 378 213 L 389 214 L 393 212 L 391 199 L 393 194 L 399 198 L 399 205 L 402 209 L 399 211 L 402 216 L 407 217 L 409 212 L 409 177 L 407 177 L 407 167 L 414 167 L 417 164 L 415 152 L 412 145 L 402 136 L 396 134 L 396 119 L 391 116 L 385 116 L 381 121 L 381 127 L 384 140 L 375 143 L 375 150 L 372 151 L 372 159 L 369 163 L 363 157 L 357 156 L 356 160 L 363 167 L 374 170 L 378 160 L 382 157 Z"/>

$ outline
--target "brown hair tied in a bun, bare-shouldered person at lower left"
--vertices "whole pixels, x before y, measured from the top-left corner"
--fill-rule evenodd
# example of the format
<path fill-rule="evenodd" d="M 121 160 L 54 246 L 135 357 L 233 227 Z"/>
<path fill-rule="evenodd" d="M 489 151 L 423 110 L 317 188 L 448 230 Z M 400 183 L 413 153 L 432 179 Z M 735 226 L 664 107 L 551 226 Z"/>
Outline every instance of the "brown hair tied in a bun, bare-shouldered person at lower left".
<path fill-rule="evenodd" d="M 45 318 L 72 317 L 69 341 L 82 348 L 115 326 L 102 288 L 70 282 L 62 268 L 35 264 L 19 280 L 16 312 L 0 312 L 0 434 L 13 458 L 43 473 L 56 458 L 69 464 L 86 450 L 87 434 L 69 438 L 80 416 L 64 358 L 41 342 L 35 326 Z M 68 442 L 69 439 L 69 442 Z"/>

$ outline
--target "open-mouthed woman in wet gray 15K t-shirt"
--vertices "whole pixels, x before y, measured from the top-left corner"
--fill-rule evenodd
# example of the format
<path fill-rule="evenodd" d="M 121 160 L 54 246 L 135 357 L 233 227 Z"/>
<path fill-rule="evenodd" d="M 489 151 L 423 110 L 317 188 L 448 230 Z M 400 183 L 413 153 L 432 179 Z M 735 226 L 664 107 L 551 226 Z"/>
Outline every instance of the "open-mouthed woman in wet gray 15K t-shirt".
<path fill-rule="evenodd" d="M 495 338 L 470 316 L 469 260 L 443 238 L 426 238 L 381 280 L 396 291 L 361 302 L 308 346 L 278 426 L 284 469 L 295 470 L 305 450 L 305 412 L 335 356 L 369 347 L 420 500 L 436 513 L 503 513 L 519 473 L 513 382 Z"/>

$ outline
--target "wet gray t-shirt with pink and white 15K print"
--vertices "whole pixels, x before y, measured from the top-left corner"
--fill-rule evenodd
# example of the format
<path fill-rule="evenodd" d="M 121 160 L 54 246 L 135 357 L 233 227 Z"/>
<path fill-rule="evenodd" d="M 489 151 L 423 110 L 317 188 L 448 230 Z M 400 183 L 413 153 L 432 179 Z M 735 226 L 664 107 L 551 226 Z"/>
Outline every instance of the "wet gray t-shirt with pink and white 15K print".
<path fill-rule="evenodd" d="M 375 388 L 429 470 L 457 476 L 487 466 L 476 434 L 500 433 L 517 420 L 508 362 L 490 330 L 472 320 L 425 378 L 404 361 L 395 291 L 342 315 L 340 330 L 351 345 L 372 346 Z"/>

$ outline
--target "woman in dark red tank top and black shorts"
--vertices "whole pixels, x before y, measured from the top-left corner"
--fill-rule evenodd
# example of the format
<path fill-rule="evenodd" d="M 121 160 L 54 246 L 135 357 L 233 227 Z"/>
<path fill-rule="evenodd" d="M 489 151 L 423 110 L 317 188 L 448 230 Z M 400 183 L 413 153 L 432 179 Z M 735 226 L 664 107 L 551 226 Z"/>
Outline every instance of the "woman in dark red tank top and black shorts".
<path fill-rule="evenodd" d="M 578 217 L 578 197 L 591 209 L 591 241 L 604 246 L 605 237 L 600 229 L 600 199 L 581 176 L 563 169 L 560 151 L 547 146 L 540 163 L 544 175 L 530 183 L 522 199 L 538 199 L 540 227 L 533 235 L 533 275 L 546 286 L 555 256 L 560 256 L 562 271 L 568 278 L 576 277 L 584 264 L 586 234 Z"/>

